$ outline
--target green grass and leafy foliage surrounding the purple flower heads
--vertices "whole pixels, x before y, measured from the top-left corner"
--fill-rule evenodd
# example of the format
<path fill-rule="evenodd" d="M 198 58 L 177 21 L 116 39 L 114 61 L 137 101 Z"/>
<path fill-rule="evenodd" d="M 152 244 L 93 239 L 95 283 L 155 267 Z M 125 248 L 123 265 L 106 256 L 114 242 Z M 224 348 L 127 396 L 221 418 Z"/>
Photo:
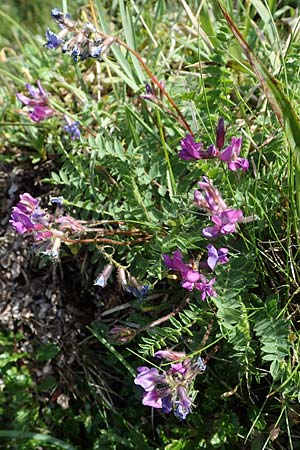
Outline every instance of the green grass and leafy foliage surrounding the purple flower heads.
<path fill-rule="evenodd" d="M 84 279 L 74 292 L 86 297 L 88 351 L 81 344 L 74 350 L 78 373 L 68 378 L 61 369 L 67 350 L 57 342 L 33 339 L 33 350 L 24 351 L 23 336 L 0 336 L 0 438 L 7 450 L 293 449 L 300 414 L 297 5 L 228 0 L 228 26 L 218 1 L 198 3 L 95 0 L 92 11 L 64 2 L 75 19 L 95 18 L 122 39 L 142 64 L 115 43 L 100 64 L 74 65 L 68 54 L 43 48 L 45 28 L 56 26 L 49 25 L 49 5 L 11 2 L 0 11 L 1 29 L 10 28 L 0 35 L 0 161 L 38 174 L 25 186 L 39 193 L 42 206 L 48 192 L 63 195 L 67 213 L 103 227 L 86 251 L 79 240 L 68 243 L 59 263 L 80 266 Z M 165 97 L 160 102 L 157 86 L 159 100 L 143 98 L 151 83 L 143 63 L 205 148 L 215 143 L 220 116 L 225 145 L 242 135 L 247 173 L 178 158 L 187 129 L 176 108 Z M 15 93 L 38 79 L 56 115 L 33 124 Z M 65 113 L 80 122 L 80 140 L 63 131 Z M 177 248 L 195 266 L 206 259 L 201 229 L 209 217 L 192 198 L 203 176 L 246 217 L 234 237 L 215 243 L 229 248 L 230 263 L 216 268 L 217 296 L 204 302 L 184 291 L 176 275 L 168 278 L 162 261 Z M 143 238 L 133 243 L 137 230 Z M 124 292 L 115 273 L 105 289 L 92 287 L 107 262 L 150 286 L 149 296 L 140 301 Z M 111 337 L 114 327 L 125 329 L 123 341 Z M 152 364 L 163 348 L 207 358 L 184 426 L 160 413 L 152 426 L 133 384 L 136 367 Z M 57 402 L 62 392 L 66 409 Z"/>

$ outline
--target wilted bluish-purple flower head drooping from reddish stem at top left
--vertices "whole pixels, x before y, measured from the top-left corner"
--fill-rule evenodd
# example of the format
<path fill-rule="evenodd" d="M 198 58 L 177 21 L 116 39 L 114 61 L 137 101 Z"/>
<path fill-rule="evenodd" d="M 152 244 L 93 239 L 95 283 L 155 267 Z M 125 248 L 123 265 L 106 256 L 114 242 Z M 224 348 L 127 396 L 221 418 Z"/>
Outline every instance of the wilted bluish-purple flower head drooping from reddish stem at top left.
<path fill-rule="evenodd" d="M 97 31 L 90 22 L 79 26 L 70 19 L 69 14 L 63 14 L 58 8 L 52 10 L 51 16 L 58 23 L 60 31 L 55 34 L 47 29 L 45 47 L 52 50 L 61 47 L 62 52 L 69 53 L 75 62 L 87 58 L 100 59 L 115 41 L 113 37 Z"/>

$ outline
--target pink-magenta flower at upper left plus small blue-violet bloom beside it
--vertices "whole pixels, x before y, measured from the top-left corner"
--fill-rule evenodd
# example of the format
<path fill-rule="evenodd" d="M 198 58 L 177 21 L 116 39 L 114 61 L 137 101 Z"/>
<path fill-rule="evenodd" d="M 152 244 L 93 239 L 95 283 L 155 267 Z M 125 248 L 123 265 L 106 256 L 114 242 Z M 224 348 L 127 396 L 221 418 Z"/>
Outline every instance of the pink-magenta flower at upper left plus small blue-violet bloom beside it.
<path fill-rule="evenodd" d="M 27 83 L 26 89 L 29 96 L 17 93 L 17 99 L 28 107 L 28 115 L 34 122 L 41 122 L 42 120 L 49 119 L 50 117 L 57 115 L 58 113 L 49 105 L 49 94 L 45 91 L 42 83 L 38 80 L 38 89 L 34 88 L 31 84 Z M 80 138 L 79 122 L 71 120 L 67 115 L 64 115 L 65 126 L 64 131 L 70 133 L 72 141 Z"/>

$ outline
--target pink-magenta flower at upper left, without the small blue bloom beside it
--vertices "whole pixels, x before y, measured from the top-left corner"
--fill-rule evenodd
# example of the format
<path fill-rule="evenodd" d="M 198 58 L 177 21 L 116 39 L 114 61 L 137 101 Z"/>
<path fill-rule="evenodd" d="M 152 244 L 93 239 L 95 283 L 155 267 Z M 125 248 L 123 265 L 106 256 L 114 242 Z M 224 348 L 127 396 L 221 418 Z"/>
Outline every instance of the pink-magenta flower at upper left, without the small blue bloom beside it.
<path fill-rule="evenodd" d="M 37 85 L 38 89 L 35 89 L 31 84 L 26 84 L 26 88 L 32 98 L 17 93 L 17 98 L 23 105 L 33 108 L 29 111 L 29 117 L 34 122 L 48 119 L 55 114 L 55 111 L 48 105 L 48 95 L 39 80 Z"/>

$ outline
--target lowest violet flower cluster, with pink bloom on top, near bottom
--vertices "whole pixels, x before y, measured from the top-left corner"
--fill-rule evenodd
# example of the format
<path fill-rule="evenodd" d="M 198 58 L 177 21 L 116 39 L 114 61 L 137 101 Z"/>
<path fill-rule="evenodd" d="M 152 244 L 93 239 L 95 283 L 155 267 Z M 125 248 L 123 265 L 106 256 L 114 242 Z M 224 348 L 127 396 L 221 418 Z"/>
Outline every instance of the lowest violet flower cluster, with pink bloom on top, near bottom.
<path fill-rule="evenodd" d="M 138 375 L 134 383 L 145 391 L 142 403 L 163 413 L 173 411 L 176 417 L 184 420 L 192 410 L 195 377 L 206 369 L 204 361 L 202 358 L 190 359 L 184 352 L 171 350 L 160 350 L 154 356 L 173 363 L 163 373 L 154 367 L 137 368 Z M 178 360 L 181 361 L 176 362 Z"/>

